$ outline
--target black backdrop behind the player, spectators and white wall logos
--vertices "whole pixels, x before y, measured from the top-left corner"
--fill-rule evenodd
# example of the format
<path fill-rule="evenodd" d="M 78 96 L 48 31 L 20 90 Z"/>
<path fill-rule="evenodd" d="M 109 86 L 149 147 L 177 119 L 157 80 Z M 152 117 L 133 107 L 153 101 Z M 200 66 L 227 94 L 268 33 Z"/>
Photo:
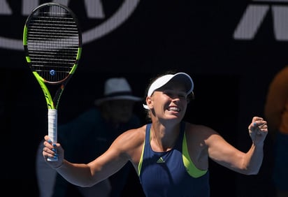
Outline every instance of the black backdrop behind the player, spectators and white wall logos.
<path fill-rule="evenodd" d="M 21 3 L 7 1 L 13 15 L 0 15 L 0 36 L 22 39 L 27 16 Z M 44 3 L 45 1 L 41 1 Z M 78 3 L 76 3 L 78 2 Z M 92 24 L 82 1 L 70 1 L 82 31 Z M 113 13 L 123 1 L 103 1 Z M 272 3 L 251 40 L 233 39 L 233 31 L 250 1 L 141 1 L 134 13 L 109 34 L 85 43 L 82 58 L 59 104 L 59 120 L 67 122 L 89 108 L 103 92 L 103 82 L 124 76 L 134 94 L 158 73 L 177 69 L 194 80 L 195 101 L 185 119 L 206 124 L 235 147 L 251 145 L 247 126 L 253 116 L 264 116 L 269 82 L 287 64 L 287 41 L 276 41 Z M 261 3 L 260 3 L 261 4 Z M 285 7 L 285 4 L 280 6 Z M 38 82 L 24 59 L 24 51 L 0 48 L 0 115 L 3 192 L 9 196 L 38 196 L 35 154 L 47 133 L 47 107 Z M 145 123 L 142 103 L 136 113 Z M 85 143 L 85 142 L 83 142 Z M 271 184 L 271 141 L 268 135 L 259 175 L 244 176 L 210 162 L 211 196 L 274 196 Z M 135 193 L 131 193 L 132 191 Z M 124 196 L 141 196 L 138 178 L 131 173 Z"/>

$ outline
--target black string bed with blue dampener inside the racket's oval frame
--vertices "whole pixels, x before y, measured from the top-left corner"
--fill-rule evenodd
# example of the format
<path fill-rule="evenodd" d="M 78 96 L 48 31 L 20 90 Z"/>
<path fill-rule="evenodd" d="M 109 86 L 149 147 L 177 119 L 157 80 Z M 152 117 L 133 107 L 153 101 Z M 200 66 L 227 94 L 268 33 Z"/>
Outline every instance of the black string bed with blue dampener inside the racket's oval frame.
<path fill-rule="evenodd" d="M 27 27 L 27 49 L 31 68 L 47 82 L 60 82 L 76 64 L 80 45 L 79 29 L 64 8 L 37 10 Z"/>

